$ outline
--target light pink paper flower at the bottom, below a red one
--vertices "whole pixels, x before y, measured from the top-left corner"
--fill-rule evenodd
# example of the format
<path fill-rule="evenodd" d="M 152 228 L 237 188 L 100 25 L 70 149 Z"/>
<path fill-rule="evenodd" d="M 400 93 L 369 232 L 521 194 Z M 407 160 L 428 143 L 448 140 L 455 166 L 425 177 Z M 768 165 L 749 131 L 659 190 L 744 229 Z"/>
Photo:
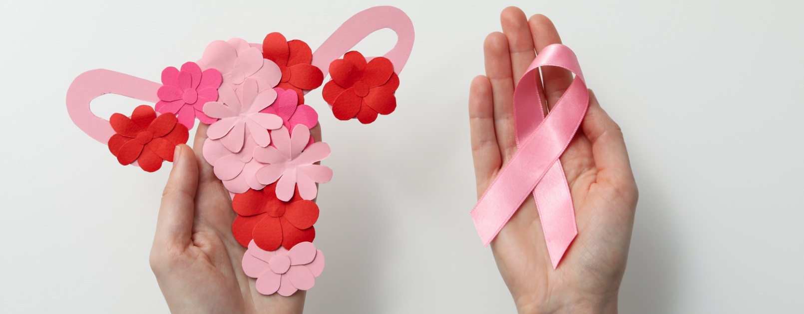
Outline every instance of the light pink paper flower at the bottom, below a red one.
<path fill-rule="evenodd" d="M 299 243 L 290 250 L 280 247 L 277 251 L 265 251 L 252 241 L 241 264 L 248 277 L 256 278 L 257 292 L 291 296 L 315 285 L 315 278 L 324 271 L 324 253 L 309 242 Z"/>

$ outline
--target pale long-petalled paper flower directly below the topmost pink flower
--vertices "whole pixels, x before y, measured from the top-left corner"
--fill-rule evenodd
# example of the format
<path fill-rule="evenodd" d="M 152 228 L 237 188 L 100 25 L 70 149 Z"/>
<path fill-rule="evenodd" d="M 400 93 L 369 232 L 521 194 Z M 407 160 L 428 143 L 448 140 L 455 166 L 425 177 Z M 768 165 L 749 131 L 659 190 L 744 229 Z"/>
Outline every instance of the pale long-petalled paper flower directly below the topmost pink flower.
<path fill-rule="evenodd" d="M 281 128 L 282 118 L 260 111 L 273 104 L 277 92 L 273 88 L 257 92 L 257 88 L 255 81 L 245 82 L 238 95 L 230 86 L 221 86 L 220 99 L 203 106 L 207 116 L 220 119 L 207 128 L 207 137 L 220 140 L 229 151 L 238 153 L 243 149 L 248 128 L 257 145 L 271 144 L 268 130 Z"/>

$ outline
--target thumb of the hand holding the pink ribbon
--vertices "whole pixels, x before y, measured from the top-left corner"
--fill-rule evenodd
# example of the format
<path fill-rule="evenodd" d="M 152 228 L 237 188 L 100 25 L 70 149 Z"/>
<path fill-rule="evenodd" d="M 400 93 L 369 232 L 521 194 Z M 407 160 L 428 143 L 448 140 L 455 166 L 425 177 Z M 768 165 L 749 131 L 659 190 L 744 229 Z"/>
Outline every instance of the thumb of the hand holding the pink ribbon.
<path fill-rule="evenodd" d="M 631 172 L 626 141 L 623 140 L 620 126 L 601 108 L 591 89 L 589 110 L 580 126 L 592 143 L 598 180 L 613 184 L 633 182 L 634 173 Z"/>

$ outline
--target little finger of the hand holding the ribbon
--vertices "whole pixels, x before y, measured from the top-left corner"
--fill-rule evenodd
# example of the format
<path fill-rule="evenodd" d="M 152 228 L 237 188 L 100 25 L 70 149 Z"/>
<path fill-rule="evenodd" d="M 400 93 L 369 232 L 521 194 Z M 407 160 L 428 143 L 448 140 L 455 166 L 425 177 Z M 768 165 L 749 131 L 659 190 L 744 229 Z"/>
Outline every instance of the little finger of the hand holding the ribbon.
<path fill-rule="evenodd" d="M 483 75 L 475 77 L 469 89 L 469 128 L 474 177 L 480 197 L 502 163 L 494 133 L 494 96 L 489 79 Z"/>

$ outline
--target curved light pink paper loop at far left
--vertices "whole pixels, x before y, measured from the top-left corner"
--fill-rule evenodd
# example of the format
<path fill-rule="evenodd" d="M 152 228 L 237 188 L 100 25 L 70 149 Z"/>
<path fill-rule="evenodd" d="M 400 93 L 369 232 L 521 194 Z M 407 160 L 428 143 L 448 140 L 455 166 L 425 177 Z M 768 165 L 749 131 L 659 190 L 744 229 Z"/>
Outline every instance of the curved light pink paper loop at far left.
<path fill-rule="evenodd" d="M 67 91 L 67 112 L 72 122 L 84 133 L 106 145 L 114 135 L 114 130 L 109 120 L 92 113 L 89 103 L 96 97 L 109 93 L 156 103 L 159 101 L 156 93 L 160 87 L 162 84 L 116 71 L 86 71 L 70 84 Z"/>

